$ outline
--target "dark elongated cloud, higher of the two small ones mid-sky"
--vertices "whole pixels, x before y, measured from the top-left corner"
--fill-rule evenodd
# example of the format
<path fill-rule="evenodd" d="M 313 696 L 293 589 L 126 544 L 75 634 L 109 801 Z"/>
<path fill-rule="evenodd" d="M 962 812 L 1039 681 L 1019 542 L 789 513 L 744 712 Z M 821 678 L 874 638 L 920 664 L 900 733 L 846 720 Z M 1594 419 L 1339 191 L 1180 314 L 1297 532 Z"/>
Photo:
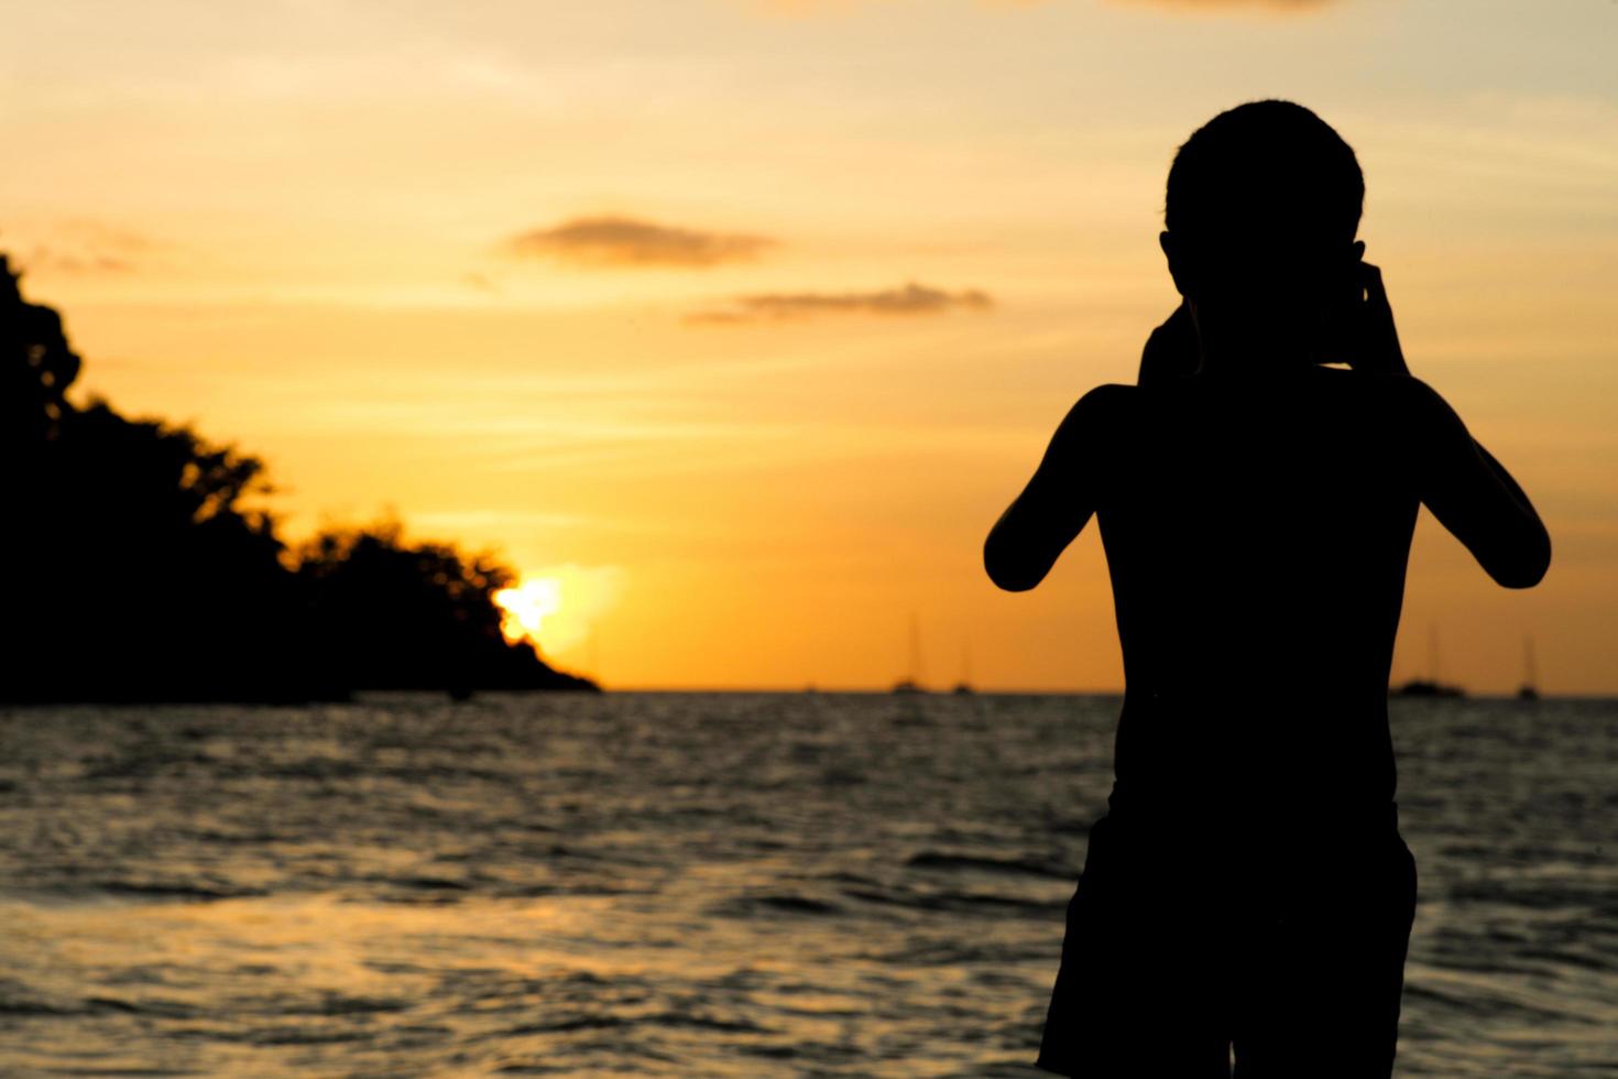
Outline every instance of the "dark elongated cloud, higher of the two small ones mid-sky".
<path fill-rule="evenodd" d="M 508 239 L 508 254 L 582 265 L 710 267 L 752 259 L 775 241 L 743 233 L 671 228 L 629 217 L 574 217 Z"/>

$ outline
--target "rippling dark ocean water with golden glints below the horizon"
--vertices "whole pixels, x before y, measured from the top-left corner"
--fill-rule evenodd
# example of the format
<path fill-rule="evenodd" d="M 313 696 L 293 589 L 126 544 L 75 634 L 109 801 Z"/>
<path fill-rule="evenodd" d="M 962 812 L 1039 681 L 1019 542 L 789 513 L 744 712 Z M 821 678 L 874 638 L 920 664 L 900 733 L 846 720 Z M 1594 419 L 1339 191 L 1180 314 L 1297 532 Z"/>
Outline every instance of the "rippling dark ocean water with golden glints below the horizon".
<path fill-rule="evenodd" d="M 0 1074 L 1044 1074 L 1116 709 L 0 710 Z M 1618 702 L 1393 726 L 1398 1074 L 1618 1073 Z"/>

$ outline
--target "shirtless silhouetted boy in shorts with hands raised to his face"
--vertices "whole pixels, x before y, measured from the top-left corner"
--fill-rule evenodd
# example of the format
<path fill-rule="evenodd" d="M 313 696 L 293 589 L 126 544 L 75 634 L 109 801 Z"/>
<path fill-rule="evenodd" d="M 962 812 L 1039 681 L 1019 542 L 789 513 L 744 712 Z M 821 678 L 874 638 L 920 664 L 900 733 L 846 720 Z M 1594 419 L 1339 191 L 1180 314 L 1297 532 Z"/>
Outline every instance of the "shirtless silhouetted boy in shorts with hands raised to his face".
<path fill-rule="evenodd" d="M 1391 1073 L 1416 865 L 1387 691 L 1416 511 L 1506 587 L 1539 582 L 1550 539 L 1409 375 L 1362 199 L 1299 105 L 1194 133 L 1160 236 L 1181 307 L 1137 387 L 1073 406 L 984 547 L 995 584 L 1032 589 L 1097 514 L 1123 645 L 1048 1071 L 1228 1076 L 1235 1048 L 1241 1079 Z"/>

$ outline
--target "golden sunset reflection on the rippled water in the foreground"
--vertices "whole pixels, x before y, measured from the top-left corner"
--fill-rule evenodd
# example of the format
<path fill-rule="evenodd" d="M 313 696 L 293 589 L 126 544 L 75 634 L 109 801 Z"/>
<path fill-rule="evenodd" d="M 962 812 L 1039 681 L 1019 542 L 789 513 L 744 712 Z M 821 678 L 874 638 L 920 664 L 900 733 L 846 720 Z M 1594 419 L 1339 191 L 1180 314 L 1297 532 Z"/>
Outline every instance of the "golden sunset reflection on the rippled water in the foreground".
<path fill-rule="evenodd" d="M 644 1073 L 788 1076 L 790 1061 L 749 1063 L 736 1047 L 752 1043 L 769 1056 L 770 1047 L 851 1037 L 882 1045 L 901 1026 L 883 1016 L 883 996 L 887 1008 L 909 1011 L 968 995 L 993 1006 L 998 995 L 1011 1014 L 1039 1000 L 1042 963 L 1024 964 L 1027 980 L 998 993 L 958 969 L 934 969 L 925 980 L 895 971 L 879 954 L 904 946 L 900 925 L 827 940 L 793 919 L 668 917 L 681 896 L 744 896 L 775 872 L 693 867 L 660 901 L 3 903 L 10 935 L 0 961 L 63 1011 L 28 1022 L 28 1050 L 13 1060 L 40 1071 L 78 1061 L 100 1074 L 471 1076 L 542 1066 L 587 1074 L 582 1058 L 568 1068 L 570 1053 L 594 1051 L 599 1061 L 604 1042 L 636 1037 L 631 1024 L 659 1026 L 680 1011 L 686 1022 L 660 1027 Z M 1016 966 L 1006 963 L 1006 972 Z M 746 988 L 746 1014 L 720 996 L 670 988 L 712 985 Z M 61 1022 L 74 1009 L 81 1019 Z M 89 1029 L 94 1037 L 74 1047 Z M 413 1047 L 421 1050 L 414 1064 L 406 1063 Z M 872 1066 L 870 1074 L 943 1074 Z"/>

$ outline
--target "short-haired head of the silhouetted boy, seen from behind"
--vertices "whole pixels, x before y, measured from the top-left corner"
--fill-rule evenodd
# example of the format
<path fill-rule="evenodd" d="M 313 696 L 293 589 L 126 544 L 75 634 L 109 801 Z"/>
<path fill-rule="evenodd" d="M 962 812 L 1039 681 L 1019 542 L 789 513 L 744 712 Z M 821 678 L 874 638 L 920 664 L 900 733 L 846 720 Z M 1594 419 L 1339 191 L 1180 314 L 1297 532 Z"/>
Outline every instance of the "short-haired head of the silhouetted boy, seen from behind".
<path fill-rule="evenodd" d="M 1358 280 L 1364 197 L 1354 150 L 1302 105 L 1223 112 L 1168 170 L 1162 246 L 1175 285 L 1201 306 L 1302 314 Z"/>

